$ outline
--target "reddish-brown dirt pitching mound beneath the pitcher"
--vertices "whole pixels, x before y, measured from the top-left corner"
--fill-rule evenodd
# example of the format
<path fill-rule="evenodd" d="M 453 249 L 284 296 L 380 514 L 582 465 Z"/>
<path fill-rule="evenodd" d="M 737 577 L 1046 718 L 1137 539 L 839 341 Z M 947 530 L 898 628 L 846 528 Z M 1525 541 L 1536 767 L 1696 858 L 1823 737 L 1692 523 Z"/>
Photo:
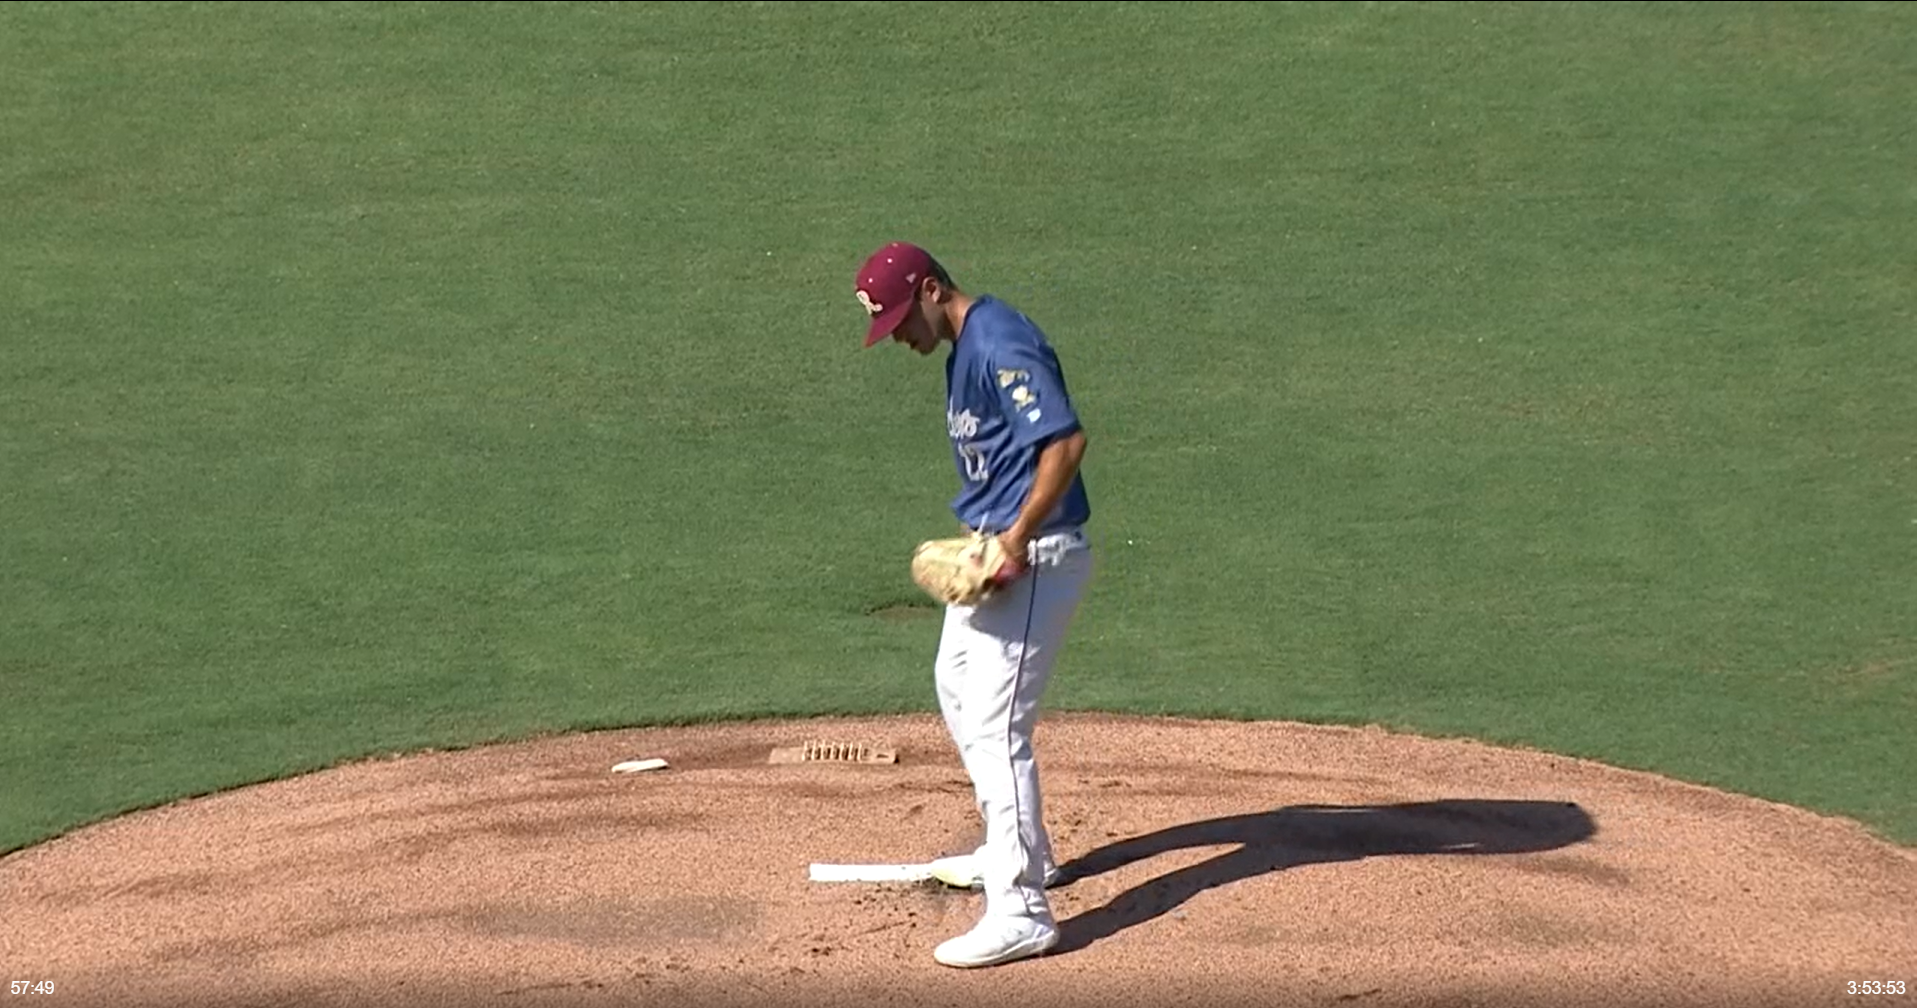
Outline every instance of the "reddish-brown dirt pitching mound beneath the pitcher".
<path fill-rule="evenodd" d="M 897 763 L 767 761 L 815 740 Z M 976 893 L 811 882 L 976 845 L 934 717 L 427 753 L 128 814 L 0 860 L 0 958 L 58 985 L 19 1004 L 128 1008 L 1917 1004 L 1917 857 L 1844 820 L 1378 730 L 1051 715 L 1037 747 L 1064 937 L 991 970 L 932 960 Z"/>

